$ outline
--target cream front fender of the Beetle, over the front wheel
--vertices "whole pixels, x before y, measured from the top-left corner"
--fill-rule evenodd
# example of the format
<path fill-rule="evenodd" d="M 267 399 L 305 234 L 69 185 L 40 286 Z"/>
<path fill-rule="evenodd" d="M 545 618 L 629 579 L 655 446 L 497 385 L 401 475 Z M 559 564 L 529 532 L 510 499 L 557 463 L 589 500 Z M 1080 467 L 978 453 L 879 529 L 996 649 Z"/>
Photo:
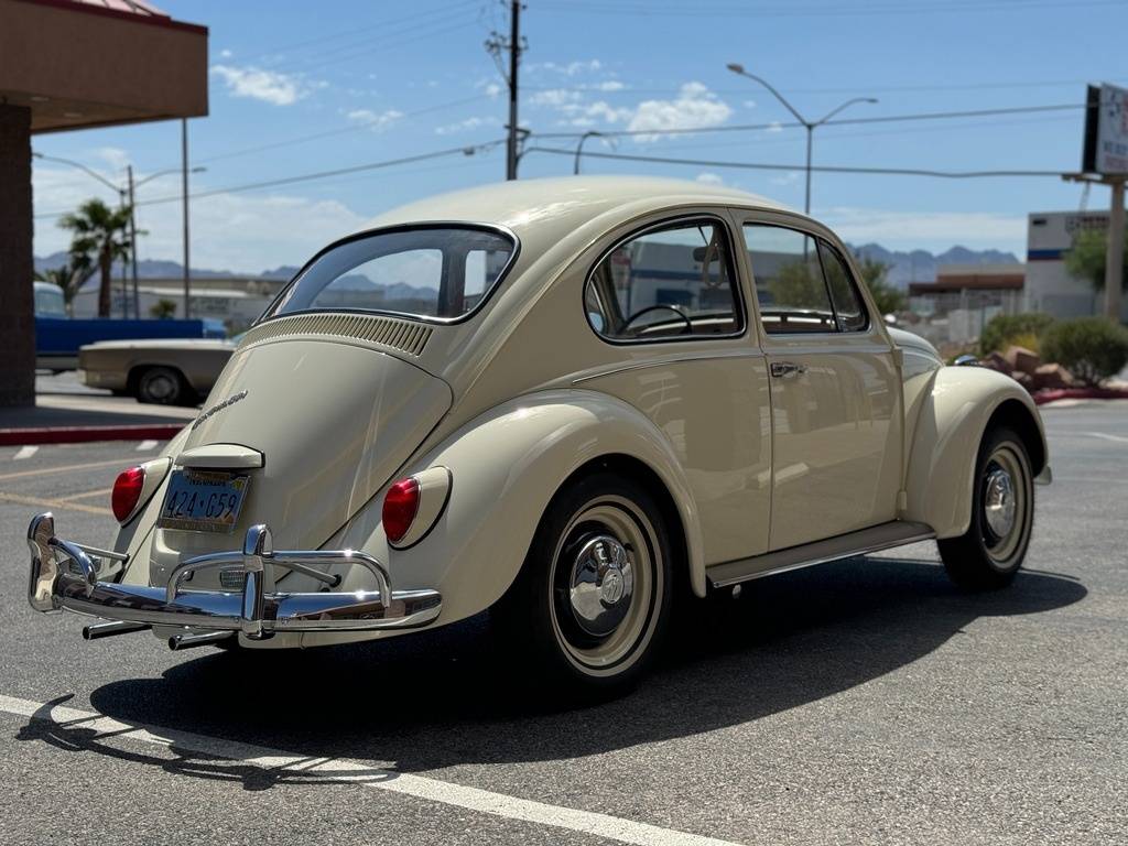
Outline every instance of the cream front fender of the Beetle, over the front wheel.
<path fill-rule="evenodd" d="M 936 370 L 913 433 L 905 519 L 927 523 L 938 538 L 968 530 L 979 444 L 1001 411 L 1029 415 L 1025 431 L 1037 433 L 1041 456 L 1048 455 L 1038 408 L 1014 379 L 978 367 Z M 1034 467 L 1036 474 L 1040 470 Z"/>

